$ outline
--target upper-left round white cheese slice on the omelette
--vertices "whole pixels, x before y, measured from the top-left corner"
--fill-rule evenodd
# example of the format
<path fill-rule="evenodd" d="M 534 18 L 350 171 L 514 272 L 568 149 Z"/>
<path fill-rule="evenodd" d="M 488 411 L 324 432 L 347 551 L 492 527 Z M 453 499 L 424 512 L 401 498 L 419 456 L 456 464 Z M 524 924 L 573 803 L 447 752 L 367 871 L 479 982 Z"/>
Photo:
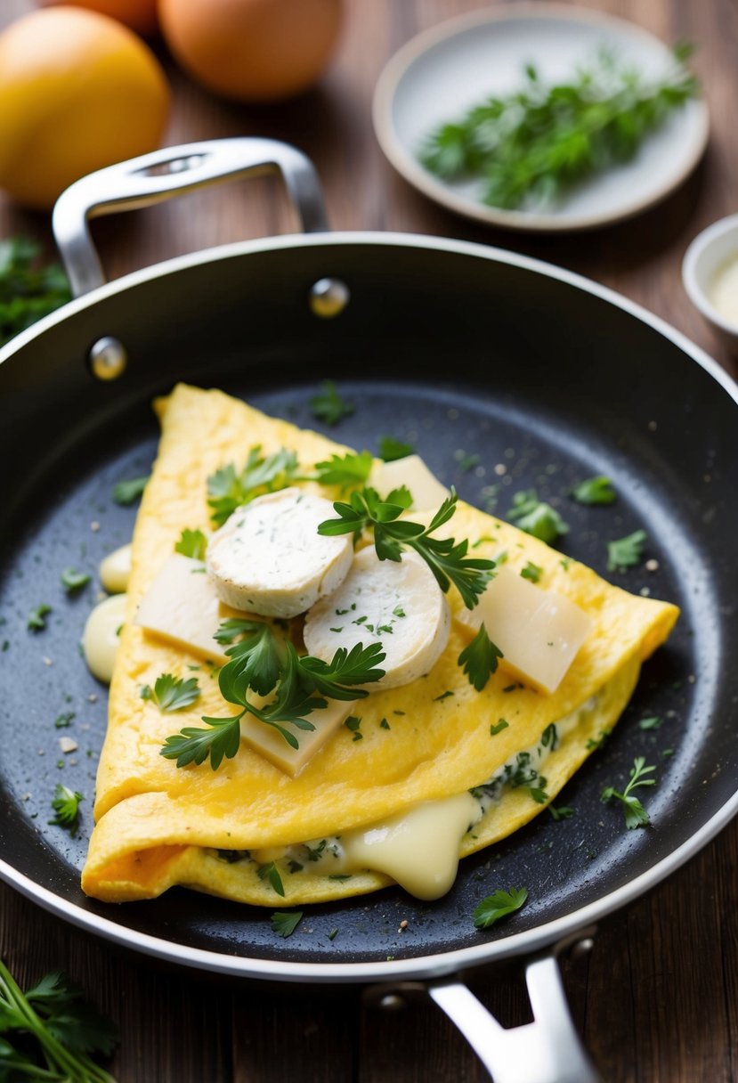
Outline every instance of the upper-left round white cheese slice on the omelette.
<path fill-rule="evenodd" d="M 334 518 L 330 500 L 293 486 L 237 508 L 208 544 L 208 572 L 220 598 L 262 616 L 304 613 L 351 567 L 351 535 L 318 534 L 318 524 Z"/>

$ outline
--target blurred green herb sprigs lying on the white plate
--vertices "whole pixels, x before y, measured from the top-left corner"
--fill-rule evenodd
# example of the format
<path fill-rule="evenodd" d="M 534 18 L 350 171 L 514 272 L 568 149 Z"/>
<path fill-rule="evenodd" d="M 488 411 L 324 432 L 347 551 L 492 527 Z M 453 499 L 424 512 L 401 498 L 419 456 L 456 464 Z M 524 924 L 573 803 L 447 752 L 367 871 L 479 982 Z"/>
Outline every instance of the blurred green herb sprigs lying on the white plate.
<path fill-rule="evenodd" d="M 432 131 L 420 160 L 446 180 L 478 179 L 480 198 L 492 207 L 554 205 L 577 183 L 632 158 L 697 94 L 685 66 L 690 53 L 677 45 L 673 65 L 655 80 L 606 49 L 551 86 L 528 64 L 519 88 Z"/>

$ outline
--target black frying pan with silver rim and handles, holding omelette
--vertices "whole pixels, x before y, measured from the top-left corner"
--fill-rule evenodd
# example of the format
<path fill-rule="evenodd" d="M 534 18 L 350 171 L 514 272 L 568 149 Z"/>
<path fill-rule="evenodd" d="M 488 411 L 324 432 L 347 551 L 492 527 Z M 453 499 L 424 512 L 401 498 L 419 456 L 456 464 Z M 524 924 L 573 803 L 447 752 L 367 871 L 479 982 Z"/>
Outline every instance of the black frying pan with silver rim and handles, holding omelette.
<path fill-rule="evenodd" d="M 104 284 L 89 218 L 253 170 L 281 173 L 304 235 Z M 328 233 L 309 162 L 272 141 L 170 147 L 102 170 L 61 197 L 54 231 L 77 299 L 0 352 L 0 875 L 66 921 L 176 964 L 370 983 L 380 994 L 422 986 L 497 1083 L 595 1080 L 557 951 L 668 876 L 738 807 L 736 386 L 673 328 L 559 269 L 433 237 Z M 676 629 L 616 732 L 562 794 L 576 814 L 543 813 L 467 858 L 438 902 L 387 889 L 318 905 L 281 940 L 264 911 L 183 889 L 123 906 L 85 899 L 79 870 L 105 694 L 78 650 L 94 585 L 65 593 L 60 573 L 94 573 L 130 537 L 135 508 L 110 494 L 148 471 L 154 395 L 176 380 L 220 387 L 320 428 L 309 399 L 329 378 L 355 407 L 330 435 L 372 451 L 381 435 L 407 440 L 463 498 L 502 516 L 514 492 L 537 487 L 570 523 L 563 550 L 633 592 L 676 601 Z M 566 497 L 595 473 L 612 479 L 614 507 Z M 607 572 L 605 542 L 634 530 L 647 532 L 657 570 Z M 42 603 L 47 626 L 29 630 Z M 660 728 L 642 729 L 645 717 Z M 60 733 L 79 745 L 63 768 Z M 627 831 L 601 793 L 622 786 L 637 755 L 657 767 L 658 785 L 645 799 L 651 826 Z M 60 781 L 83 794 L 76 836 L 48 823 Z M 526 906 L 476 930 L 479 900 L 511 886 L 528 888 Z M 460 975 L 515 956 L 535 1021 L 503 1030 Z"/>

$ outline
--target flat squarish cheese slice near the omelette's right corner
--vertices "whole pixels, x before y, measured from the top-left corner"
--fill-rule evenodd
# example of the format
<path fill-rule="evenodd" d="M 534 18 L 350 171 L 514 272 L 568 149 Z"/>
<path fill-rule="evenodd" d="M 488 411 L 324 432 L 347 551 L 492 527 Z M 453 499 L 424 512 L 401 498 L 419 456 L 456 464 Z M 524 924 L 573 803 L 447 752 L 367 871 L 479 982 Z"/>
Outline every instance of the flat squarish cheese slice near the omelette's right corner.
<path fill-rule="evenodd" d="M 555 692 L 592 629 L 583 610 L 500 567 L 473 610 L 456 621 L 477 632 L 482 624 L 502 651 L 500 666 L 539 691 Z"/>

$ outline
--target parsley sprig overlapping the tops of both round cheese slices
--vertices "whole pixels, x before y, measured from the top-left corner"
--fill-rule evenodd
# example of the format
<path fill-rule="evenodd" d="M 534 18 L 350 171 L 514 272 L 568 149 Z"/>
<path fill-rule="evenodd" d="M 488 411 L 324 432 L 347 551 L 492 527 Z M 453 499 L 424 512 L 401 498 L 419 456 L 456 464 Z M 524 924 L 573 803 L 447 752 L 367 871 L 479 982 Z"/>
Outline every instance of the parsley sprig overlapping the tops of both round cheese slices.
<path fill-rule="evenodd" d="M 354 534 L 358 538 L 365 530 L 371 529 L 380 560 L 399 561 L 404 549 L 413 549 L 431 569 L 444 592 L 453 584 L 466 609 L 474 609 L 489 582 L 495 561 L 467 557 L 466 538 L 456 542 L 431 536 L 453 516 L 457 494 L 452 492 L 444 500 L 429 526 L 399 518 L 411 503 L 412 497 L 406 488 L 393 490 L 385 500 L 368 486 L 356 490 L 347 503 L 339 500 L 333 505 L 339 518 L 320 523 L 318 534 Z"/>

